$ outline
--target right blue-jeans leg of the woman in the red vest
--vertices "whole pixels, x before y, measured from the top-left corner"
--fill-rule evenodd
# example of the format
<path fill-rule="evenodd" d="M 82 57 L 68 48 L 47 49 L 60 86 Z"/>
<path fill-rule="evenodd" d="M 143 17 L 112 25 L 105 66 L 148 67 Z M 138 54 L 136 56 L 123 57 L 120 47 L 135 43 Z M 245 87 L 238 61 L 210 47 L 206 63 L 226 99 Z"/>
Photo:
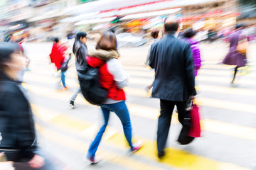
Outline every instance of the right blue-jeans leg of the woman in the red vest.
<path fill-rule="evenodd" d="M 121 101 L 119 103 L 114 103 L 111 105 L 108 105 L 110 110 L 117 114 L 118 118 L 122 122 L 122 126 L 124 129 L 124 135 L 127 139 L 127 142 L 131 149 L 133 149 L 132 145 L 132 123 L 131 119 L 129 117 L 129 111 L 127 108 L 127 105 L 125 101 Z"/>

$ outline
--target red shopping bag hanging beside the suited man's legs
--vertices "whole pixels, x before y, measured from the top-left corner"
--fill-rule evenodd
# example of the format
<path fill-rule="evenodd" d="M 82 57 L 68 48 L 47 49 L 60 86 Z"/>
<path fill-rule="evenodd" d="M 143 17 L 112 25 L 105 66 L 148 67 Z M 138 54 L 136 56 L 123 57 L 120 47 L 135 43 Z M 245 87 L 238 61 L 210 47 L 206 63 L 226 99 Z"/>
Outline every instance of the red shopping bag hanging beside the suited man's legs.
<path fill-rule="evenodd" d="M 199 107 L 194 102 L 192 103 L 190 114 L 191 114 L 191 129 L 188 135 L 191 137 L 201 137 Z"/>

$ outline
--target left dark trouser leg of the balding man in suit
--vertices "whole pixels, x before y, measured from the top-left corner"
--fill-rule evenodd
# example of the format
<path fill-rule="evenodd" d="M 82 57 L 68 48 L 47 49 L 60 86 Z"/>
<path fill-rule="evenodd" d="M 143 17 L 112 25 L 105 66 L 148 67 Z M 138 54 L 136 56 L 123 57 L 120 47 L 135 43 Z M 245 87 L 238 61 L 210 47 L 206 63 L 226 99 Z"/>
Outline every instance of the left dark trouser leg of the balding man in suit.
<path fill-rule="evenodd" d="M 171 125 L 171 115 L 174 111 L 174 102 L 160 100 L 160 115 L 157 125 L 157 150 L 159 157 L 164 156 L 164 147 L 166 146 L 166 140 L 169 134 L 169 128 Z"/>

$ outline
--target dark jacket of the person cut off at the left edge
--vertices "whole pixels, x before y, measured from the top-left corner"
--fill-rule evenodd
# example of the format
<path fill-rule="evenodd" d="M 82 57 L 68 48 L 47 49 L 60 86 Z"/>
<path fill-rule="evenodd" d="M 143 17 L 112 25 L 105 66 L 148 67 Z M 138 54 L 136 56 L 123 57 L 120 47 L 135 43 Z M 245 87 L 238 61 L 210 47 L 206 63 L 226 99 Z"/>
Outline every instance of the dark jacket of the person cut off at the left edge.
<path fill-rule="evenodd" d="M 0 152 L 7 159 L 20 162 L 32 159 L 36 135 L 31 106 L 20 83 L 0 80 Z"/>

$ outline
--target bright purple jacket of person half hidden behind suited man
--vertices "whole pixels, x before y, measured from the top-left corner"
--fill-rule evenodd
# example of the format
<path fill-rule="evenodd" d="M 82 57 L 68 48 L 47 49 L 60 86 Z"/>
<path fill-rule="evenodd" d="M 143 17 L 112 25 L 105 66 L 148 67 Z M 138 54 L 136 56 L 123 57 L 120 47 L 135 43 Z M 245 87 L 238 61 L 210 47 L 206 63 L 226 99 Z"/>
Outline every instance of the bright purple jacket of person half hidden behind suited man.
<path fill-rule="evenodd" d="M 198 41 L 193 40 L 192 38 L 184 38 L 183 40 L 185 40 L 191 45 L 193 64 L 194 64 L 194 74 L 196 77 L 198 74 L 198 69 L 200 69 L 201 67 L 201 55 L 200 55 Z"/>

